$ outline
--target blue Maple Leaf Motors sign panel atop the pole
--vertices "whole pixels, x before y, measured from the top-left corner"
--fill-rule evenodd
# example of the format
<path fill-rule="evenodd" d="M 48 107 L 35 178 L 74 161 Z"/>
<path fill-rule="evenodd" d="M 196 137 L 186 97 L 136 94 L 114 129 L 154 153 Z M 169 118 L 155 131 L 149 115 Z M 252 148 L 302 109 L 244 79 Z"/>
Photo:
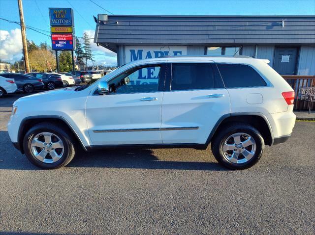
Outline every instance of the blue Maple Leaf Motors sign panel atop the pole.
<path fill-rule="evenodd" d="M 49 8 L 51 26 L 73 26 L 73 10 L 71 8 Z"/>

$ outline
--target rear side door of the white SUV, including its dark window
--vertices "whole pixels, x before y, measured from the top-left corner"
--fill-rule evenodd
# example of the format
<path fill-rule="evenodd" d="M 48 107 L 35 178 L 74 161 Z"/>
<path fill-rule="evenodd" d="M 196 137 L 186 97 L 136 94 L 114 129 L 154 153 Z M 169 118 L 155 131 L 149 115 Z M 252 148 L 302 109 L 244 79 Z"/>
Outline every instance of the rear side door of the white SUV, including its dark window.
<path fill-rule="evenodd" d="M 204 144 L 218 120 L 229 113 L 229 95 L 215 63 L 167 65 L 162 102 L 163 144 Z"/>

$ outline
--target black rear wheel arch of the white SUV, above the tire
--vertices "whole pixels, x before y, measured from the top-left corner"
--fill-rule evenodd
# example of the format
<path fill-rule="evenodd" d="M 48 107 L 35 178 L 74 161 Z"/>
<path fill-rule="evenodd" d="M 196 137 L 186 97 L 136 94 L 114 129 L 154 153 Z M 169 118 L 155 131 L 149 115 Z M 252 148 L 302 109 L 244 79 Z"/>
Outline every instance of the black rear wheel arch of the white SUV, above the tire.
<path fill-rule="evenodd" d="M 258 112 L 240 112 L 223 115 L 211 131 L 206 144 L 208 145 L 215 138 L 216 134 L 224 128 L 224 125 L 232 122 L 252 125 L 261 133 L 266 145 L 273 145 L 274 139 L 270 123 L 264 114 Z"/>

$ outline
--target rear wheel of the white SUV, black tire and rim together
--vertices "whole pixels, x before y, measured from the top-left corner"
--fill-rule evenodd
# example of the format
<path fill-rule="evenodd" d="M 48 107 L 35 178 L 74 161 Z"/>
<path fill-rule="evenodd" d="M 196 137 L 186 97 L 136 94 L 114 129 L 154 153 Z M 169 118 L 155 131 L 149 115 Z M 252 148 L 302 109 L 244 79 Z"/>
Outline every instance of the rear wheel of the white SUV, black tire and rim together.
<path fill-rule="evenodd" d="M 244 123 L 224 127 L 211 143 L 217 161 L 234 170 L 246 169 L 257 163 L 264 147 L 265 142 L 259 131 Z"/>

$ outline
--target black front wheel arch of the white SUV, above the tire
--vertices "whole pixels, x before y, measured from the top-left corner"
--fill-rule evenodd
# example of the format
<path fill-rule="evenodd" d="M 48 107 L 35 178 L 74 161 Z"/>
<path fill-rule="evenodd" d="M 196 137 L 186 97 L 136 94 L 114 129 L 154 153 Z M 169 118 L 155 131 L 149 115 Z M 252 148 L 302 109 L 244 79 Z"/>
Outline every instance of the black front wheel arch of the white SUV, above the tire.
<path fill-rule="evenodd" d="M 74 128 L 70 125 L 70 123 L 61 116 L 33 116 L 33 117 L 27 117 L 24 118 L 21 122 L 21 125 L 19 127 L 18 131 L 18 146 L 22 154 L 24 154 L 23 149 L 23 138 L 28 130 L 30 130 L 33 126 L 35 126 L 38 123 L 43 122 L 49 122 L 53 124 L 57 124 L 66 130 L 69 131 L 69 133 L 72 135 L 72 137 L 75 139 L 76 143 L 79 144 L 85 151 L 87 151 L 85 145 L 83 144 L 82 140 L 80 139 L 77 132 L 74 130 Z"/>

